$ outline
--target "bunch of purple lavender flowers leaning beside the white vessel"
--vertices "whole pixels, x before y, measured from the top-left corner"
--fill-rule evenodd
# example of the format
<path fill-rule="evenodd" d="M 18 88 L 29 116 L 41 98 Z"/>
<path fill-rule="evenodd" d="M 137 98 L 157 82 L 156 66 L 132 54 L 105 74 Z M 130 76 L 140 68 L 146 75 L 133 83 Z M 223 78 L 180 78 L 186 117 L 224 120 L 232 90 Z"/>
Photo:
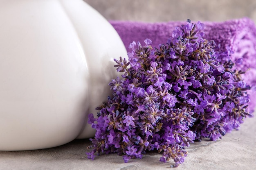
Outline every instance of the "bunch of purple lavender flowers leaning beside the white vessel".
<path fill-rule="evenodd" d="M 229 47 L 204 39 L 204 24 L 187 20 L 165 44 L 144 43 L 130 44 L 128 60 L 115 59 L 123 74 L 109 83 L 113 95 L 98 118 L 89 115 L 96 134 L 88 158 L 117 153 L 127 162 L 158 150 L 160 161 L 178 166 L 190 143 L 221 139 L 252 116 L 242 59 L 232 61 Z"/>

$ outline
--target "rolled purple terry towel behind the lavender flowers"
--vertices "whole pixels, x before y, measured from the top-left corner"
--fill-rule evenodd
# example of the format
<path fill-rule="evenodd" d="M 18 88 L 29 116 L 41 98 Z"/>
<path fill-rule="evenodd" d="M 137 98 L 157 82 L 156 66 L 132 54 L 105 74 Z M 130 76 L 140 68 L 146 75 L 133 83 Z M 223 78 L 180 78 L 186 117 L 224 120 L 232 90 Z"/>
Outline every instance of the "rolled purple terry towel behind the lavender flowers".
<path fill-rule="evenodd" d="M 128 52 L 130 52 L 128 46 L 132 41 L 140 41 L 143 44 L 146 38 L 152 40 L 153 47 L 158 47 L 159 44 L 165 43 L 171 37 L 176 26 L 185 24 L 185 22 L 145 23 L 126 21 L 110 21 L 110 23 L 120 35 Z M 256 106 L 256 100 L 253 99 L 253 96 L 256 95 L 256 26 L 254 22 L 248 18 L 243 18 L 226 22 L 203 23 L 205 24 L 204 38 L 214 40 L 216 44 L 220 44 L 220 50 L 224 51 L 226 47 L 230 47 L 234 52 L 231 54 L 234 61 L 243 59 L 240 69 L 249 69 L 244 79 L 252 86 L 249 92 L 252 98 L 249 110 L 252 111 Z"/>

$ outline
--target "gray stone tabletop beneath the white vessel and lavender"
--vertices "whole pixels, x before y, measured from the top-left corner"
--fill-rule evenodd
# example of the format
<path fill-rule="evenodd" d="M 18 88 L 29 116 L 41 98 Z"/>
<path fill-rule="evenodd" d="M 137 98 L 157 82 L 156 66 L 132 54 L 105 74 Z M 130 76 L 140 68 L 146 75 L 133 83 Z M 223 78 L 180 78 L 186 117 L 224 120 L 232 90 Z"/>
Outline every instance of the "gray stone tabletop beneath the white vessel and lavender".
<path fill-rule="evenodd" d="M 248 118 L 239 131 L 222 140 L 191 144 L 188 156 L 177 170 L 254 170 L 256 169 L 256 117 Z M 18 142 L 18 141 L 17 141 Z M 149 152 L 142 159 L 124 163 L 116 154 L 86 158 L 88 139 L 43 150 L 0 151 L 1 170 L 166 170 L 170 163 L 159 161 L 161 154 Z"/>

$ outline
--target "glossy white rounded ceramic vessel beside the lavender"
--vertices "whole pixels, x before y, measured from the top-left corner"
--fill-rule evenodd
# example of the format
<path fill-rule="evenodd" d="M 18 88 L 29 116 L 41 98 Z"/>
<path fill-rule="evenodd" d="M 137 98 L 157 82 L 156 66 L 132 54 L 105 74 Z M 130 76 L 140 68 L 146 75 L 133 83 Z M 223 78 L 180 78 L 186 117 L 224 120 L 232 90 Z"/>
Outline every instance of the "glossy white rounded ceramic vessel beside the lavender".
<path fill-rule="evenodd" d="M 59 146 L 94 131 L 109 95 L 114 28 L 82 0 L 0 1 L 0 150 Z"/>

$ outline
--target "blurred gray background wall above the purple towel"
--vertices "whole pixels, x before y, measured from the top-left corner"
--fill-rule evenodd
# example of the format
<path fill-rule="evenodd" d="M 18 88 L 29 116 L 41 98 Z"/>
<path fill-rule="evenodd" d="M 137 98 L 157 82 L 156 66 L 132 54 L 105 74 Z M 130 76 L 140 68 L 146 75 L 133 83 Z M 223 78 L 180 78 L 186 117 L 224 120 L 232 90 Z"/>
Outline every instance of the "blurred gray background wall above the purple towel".
<path fill-rule="evenodd" d="M 249 17 L 256 22 L 256 0 L 84 0 L 107 20 L 144 22 L 225 21 Z"/>

